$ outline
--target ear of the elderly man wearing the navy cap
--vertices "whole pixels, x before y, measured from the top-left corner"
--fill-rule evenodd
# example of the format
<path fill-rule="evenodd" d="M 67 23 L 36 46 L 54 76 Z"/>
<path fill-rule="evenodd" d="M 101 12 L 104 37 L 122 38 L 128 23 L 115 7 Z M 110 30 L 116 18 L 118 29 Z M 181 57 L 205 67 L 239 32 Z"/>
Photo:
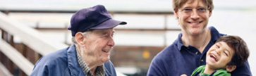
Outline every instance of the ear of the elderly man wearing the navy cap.
<path fill-rule="evenodd" d="M 85 46 L 85 36 L 83 36 L 82 32 L 77 32 L 75 34 L 75 41 L 79 46 Z"/>

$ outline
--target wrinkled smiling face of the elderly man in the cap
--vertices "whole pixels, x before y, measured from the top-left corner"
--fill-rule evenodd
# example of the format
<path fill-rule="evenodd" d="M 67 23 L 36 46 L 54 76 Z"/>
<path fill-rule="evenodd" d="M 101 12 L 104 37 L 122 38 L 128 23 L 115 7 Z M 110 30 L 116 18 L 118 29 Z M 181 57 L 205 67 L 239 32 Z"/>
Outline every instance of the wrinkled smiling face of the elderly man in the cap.
<path fill-rule="evenodd" d="M 109 53 L 115 45 L 113 40 L 114 29 L 93 30 L 85 39 L 86 59 L 96 61 L 98 65 L 102 65 L 109 61 Z"/>

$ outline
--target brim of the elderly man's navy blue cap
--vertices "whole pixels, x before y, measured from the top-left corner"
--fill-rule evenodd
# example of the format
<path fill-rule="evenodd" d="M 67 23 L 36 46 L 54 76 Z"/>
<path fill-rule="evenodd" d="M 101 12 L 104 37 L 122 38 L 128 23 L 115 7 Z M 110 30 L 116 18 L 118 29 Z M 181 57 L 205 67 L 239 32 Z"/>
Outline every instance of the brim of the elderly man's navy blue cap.
<path fill-rule="evenodd" d="M 126 25 L 126 24 L 127 23 L 123 22 L 123 21 L 109 19 L 95 27 L 91 27 L 90 29 L 92 29 L 92 30 L 110 29 L 110 28 L 116 27 L 117 25 Z"/>

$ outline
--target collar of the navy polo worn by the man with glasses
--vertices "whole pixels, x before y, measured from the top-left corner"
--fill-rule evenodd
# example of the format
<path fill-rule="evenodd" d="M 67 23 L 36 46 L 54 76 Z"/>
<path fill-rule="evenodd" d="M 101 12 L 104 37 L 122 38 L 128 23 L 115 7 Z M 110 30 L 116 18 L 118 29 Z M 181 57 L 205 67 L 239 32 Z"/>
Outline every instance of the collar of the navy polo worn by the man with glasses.
<path fill-rule="evenodd" d="M 226 35 L 226 34 L 220 34 L 218 30 L 213 26 L 208 27 L 208 29 L 210 30 L 211 37 L 212 37 L 209 43 L 215 43 L 217 39 L 219 39 L 219 37 Z M 178 39 L 176 39 L 176 41 L 174 42 L 177 44 L 179 51 L 181 51 L 181 48 L 185 46 L 181 41 L 181 37 L 182 37 L 182 33 L 178 34 Z"/>

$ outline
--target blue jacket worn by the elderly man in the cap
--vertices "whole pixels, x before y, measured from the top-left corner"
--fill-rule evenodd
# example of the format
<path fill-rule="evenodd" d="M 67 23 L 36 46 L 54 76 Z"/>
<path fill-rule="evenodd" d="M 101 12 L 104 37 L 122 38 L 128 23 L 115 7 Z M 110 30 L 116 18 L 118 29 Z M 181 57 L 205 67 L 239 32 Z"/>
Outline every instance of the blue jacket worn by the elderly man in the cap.
<path fill-rule="evenodd" d="M 116 70 L 111 61 L 104 63 L 105 76 L 116 76 Z M 75 45 L 61 49 L 37 61 L 31 76 L 85 76 L 78 64 Z"/>

